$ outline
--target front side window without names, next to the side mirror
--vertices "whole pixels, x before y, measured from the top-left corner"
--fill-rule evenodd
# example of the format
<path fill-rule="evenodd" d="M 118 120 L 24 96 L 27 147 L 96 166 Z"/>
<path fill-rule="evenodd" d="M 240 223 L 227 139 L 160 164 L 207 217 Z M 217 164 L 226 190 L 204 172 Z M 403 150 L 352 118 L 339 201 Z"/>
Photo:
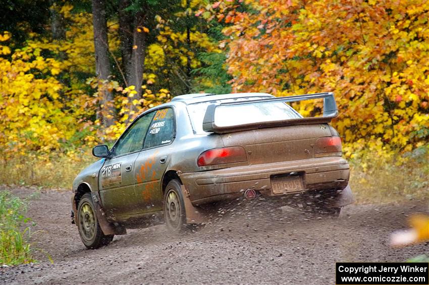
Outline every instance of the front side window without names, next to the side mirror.
<path fill-rule="evenodd" d="M 144 115 L 127 130 L 115 146 L 115 156 L 138 151 L 143 148 L 144 135 L 150 126 L 153 115 L 154 112 Z"/>

